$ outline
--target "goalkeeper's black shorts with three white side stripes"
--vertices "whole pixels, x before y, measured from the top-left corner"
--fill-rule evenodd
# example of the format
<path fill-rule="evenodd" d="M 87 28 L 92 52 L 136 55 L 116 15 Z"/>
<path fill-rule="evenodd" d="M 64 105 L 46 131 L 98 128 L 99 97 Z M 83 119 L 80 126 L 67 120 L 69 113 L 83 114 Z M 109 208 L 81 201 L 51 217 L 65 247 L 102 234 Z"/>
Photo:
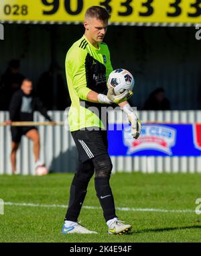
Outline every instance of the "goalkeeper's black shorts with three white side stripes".
<path fill-rule="evenodd" d="M 107 130 L 76 130 L 71 134 L 83 163 L 98 155 L 108 154 Z"/>

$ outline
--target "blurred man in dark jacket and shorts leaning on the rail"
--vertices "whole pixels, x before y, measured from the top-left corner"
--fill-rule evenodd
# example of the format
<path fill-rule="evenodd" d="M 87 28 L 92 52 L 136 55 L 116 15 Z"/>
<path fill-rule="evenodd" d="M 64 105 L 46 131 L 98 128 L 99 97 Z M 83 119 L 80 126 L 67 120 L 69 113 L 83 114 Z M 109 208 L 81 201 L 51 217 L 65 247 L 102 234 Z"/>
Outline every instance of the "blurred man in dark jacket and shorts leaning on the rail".
<path fill-rule="evenodd" d="M 47 120 L 52 122 L 50 116 L 48 116 L 46 108 L 44 108 L 42 101 L 39 97 L 34 95 L 33 85 L 29 79 L 24 79 L 21 84 L 21 89 L 16 91 L 11 98 L 9 105 L 10 120 L 6 121 L 6 124 L 11 122 L 30 122 L 34 120 L 34 111 L 38 110 Z M 54 122 L 52 122 L 54 124 Z M 43 165 L 40 161 L 40 136 L 35 126 L 11 126 L 11 165 L 13 173 L 17 174 L 19 170 L 16 170 L 16 152 L 19 148 L 21 136 L 25 135 L 27 138 L 33 140 L 34 143 L 34 158 L 35 167 Z"/>

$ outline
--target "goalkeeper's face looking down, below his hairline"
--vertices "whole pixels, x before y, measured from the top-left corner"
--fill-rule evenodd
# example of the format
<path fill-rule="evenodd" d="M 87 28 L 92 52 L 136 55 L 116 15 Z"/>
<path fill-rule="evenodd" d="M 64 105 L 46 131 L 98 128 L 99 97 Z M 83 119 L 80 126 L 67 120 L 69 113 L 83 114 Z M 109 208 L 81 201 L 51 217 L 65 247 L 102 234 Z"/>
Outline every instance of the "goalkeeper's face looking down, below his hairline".
<path fill-rule="evenodd" d="M 107 32 L 108 21 L 96 18 L 88 18 L 84 22 L 84 27 L 88 32 L 88 36 L 97 43 L 103 42 L 103 38 Z"/>

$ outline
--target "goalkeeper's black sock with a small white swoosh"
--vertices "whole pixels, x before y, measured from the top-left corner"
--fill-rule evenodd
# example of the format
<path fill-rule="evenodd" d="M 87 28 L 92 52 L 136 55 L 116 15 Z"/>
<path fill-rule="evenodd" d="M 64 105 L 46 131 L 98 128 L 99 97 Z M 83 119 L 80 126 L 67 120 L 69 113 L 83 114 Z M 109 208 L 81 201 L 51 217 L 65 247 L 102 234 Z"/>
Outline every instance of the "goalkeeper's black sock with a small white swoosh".
<path fill-rule="evenodd" d="M 103 209 L 103 216 L 106 221 L 111 220 L 112 218 L 117 217 L 115 214 L 115 202 L 113 198 L 113 193 L 109 184 L 109 178 L 104 177 L 96 177 L 95 181 L 95 189 L 96 196 L 100 201 L 100 205 Z"/>

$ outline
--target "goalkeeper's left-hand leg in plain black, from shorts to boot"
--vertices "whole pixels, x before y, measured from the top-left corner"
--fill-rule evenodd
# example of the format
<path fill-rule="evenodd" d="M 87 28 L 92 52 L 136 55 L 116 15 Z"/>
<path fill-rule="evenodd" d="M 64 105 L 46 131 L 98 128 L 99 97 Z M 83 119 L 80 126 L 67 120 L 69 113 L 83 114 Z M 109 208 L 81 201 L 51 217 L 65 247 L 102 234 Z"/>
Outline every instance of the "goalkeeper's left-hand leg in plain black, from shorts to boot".
<path fill-rule="evenodd" d="M 94 166 L 91 160 L 79 161 L 77 172 L 74 175 L 70 187 L 70 199 L 65 220 L 78 221 L 78 216 L 86 196 L 88 182 L 94 173 Z"/>

